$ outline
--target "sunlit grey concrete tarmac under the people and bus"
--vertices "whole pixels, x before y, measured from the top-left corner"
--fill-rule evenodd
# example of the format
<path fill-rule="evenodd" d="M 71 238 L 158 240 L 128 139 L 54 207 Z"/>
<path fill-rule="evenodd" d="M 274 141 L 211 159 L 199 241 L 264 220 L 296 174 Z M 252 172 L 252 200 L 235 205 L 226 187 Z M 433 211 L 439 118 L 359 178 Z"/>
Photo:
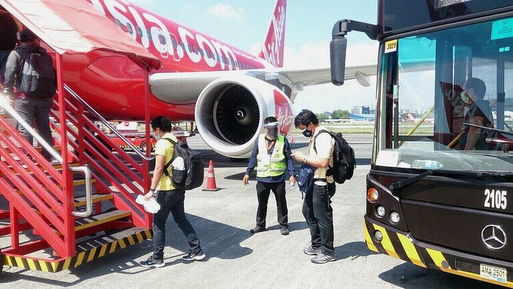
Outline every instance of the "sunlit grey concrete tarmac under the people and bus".
<path fill-rule="evenodd" d="M 231 162 L 206 147 L 199 136 L 189 146 L 202 151 L 208 164 L 214 161 L 217 192 L 201 188 L 188 191 L 185 212 L 207 258 L 184 262 L 188 251 L 185 236 L 172 221 L 166 225 L 162 268 L 143 268 L 153 242 L 146 240 L 59 273 L 3 267 L 0 288 L 491 288 L 482 281 L 466 279 L 415 266 L 365 247 L 365 177 L 371 162 L 371 135 L 348 135 L 356 151 L 354 177 L 337 185 L 332 198 L 334 247 L 337 260 L 313 264 L 303 253 L 310 234 L 302 216 L 302 195 L 287 185 L 288 236 L 280 235 L 276 203 L 269 198 L 267 231 L 250 234 L 257 212 L 256 181 L 244 186 L 247 162 Z M 306 152 L 306 138 L 294 135 L 293 151 Z M 207 174 L 205 174 L 207 175 Z M 206 181 L 204 182 L 204 185 Z M 7 237 L 0 247 L 8 247 Z"/>

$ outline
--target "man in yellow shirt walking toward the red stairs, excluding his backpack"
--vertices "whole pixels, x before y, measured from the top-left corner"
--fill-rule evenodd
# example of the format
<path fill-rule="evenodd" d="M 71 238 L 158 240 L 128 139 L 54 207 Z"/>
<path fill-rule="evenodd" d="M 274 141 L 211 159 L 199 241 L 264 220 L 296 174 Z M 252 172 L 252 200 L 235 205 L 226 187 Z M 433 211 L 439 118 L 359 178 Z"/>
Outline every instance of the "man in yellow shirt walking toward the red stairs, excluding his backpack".
<path fill-rule="evenodd" d="M 172 165 L 168 168 L 168 174 L 164 173 L 164 167 L 173 158 L 174 143 L 178 141 L 171 134 L 172 123 L 166 116 L 157 116 L 151 121 L 151 128 L 157 140 L 155 145 L 155 169 L 153 170 L 150 191 L 144 195 L 144 199 L 148 201 L 151 197 L 156 197 L 160 210 L 153 215 L 153 254 L 148 257 L 148 260 L 141 262 L 141 266 L 155 268 L 165 265 L 163 254 L 164 243 L 166 242 L 166 221 L 170 213 L 189 242 L 189 254 L 183 256 L 182 259 L 185 261 L 202 260 L 205 258 L 205 253 L 200 247 L 200 240 L 185 216 L 185 190 L 175 188 L 172 179 L 168 177 L 169 172 L 173 171 Z M 168 140 L 172 140 L 174 143 Z M 158 191 L 157 194 L 155 194 L 156 191 Z"/>

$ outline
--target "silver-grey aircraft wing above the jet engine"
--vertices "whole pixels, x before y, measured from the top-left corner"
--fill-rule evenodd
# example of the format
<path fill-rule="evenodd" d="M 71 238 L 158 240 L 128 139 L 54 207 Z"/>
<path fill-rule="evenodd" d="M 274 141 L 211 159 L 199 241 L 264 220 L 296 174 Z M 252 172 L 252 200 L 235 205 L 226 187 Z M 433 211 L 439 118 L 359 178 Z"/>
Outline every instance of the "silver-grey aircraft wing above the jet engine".
<path fill-rule="evenodd" d="M 345 68 L 345 80 L 356 79 L 358 73 L 360 79 L 376 75 L 376 64 L 364 66 L 347 66 Z M 195 103 L 208 84 L 215 79 L 236 79 L 241 75 L 248 75 L 260 79 L 282 89 L 285 89 L 291 101 L 295 94 L 304 86 L 327 84 L 331 81 L 330 68 L 295 69 L 263 68 L 248 71 L 202 71 L 189 73 L 153 73 L 150 75 L 150 89 L 153 95 L 167 103 L 186 104 Z M 359 80 L 360 80 L 359 79 Z M 278 81 L 276 81 L 278 80 Z M 360 82 L 361 84 L 361 82 Z M 363 84 L 364 85 L 364 84 Z M 368 85 L 368 84 L 367 84 Z"/>

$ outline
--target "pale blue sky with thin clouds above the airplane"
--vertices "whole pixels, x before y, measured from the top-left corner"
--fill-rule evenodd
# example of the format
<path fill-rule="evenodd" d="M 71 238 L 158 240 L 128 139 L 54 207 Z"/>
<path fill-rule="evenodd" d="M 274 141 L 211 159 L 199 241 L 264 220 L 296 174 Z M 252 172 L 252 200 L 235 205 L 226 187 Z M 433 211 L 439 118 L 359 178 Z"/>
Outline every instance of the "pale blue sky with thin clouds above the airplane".
<path fill-rule="evenodd" d="M 275 0 L 129 0 L 251 53 L 257 53 L 267 32 Z M 285 28 L 285 68 L 329 67 L 329 42 L 336 21 L 350 18 L 376 24 L 376 0 L 288 0 Z M 376 64 L 378 43 L 360 32 L 348 36 L 348 66 Z M 350 110 L 376 103 L 376 77 L 364 88 L 356 81 L 343 86 L 309 86 L 298 94 L 293 108 L 313 112 Z"/>

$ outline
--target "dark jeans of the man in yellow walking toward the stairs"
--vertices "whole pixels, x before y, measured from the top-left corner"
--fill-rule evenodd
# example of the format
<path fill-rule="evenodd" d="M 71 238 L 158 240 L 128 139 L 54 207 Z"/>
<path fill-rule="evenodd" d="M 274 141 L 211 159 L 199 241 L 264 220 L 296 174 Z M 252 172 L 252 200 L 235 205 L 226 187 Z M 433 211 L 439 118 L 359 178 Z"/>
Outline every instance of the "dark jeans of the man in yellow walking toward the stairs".
<path fill-rule="evenodd" d="M 183 201 L 185 192 L 182 190 L 161 190 L 157 195 L 157 203 L 160 205 L 159 212 L 153 215 L 153 258 L 162 259 L 164 255 L 164 243 L 166 242 L 166 221 L 169 213 L 173 215 L 174 222 L 183 231 L 191 251 L 200 253 L 200 240 L 189 220 L 185 216 Z"/>

